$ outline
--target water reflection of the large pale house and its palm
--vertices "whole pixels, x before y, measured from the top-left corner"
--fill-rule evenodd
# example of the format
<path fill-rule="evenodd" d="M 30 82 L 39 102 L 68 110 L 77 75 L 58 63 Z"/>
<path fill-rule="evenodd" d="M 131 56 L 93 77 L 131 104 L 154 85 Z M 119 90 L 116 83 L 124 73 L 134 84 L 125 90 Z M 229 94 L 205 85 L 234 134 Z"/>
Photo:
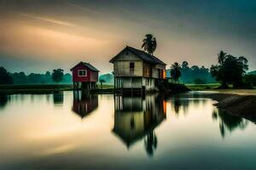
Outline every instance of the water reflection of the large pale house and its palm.
<path fill-rule="evenodd" d="M 114 96 L 113 133 L 127 148 L 144 139 L 148 156 L 153 156 L 157 147 L 154 128 L 166 119 L 166 101 L 159 95 Z"/>

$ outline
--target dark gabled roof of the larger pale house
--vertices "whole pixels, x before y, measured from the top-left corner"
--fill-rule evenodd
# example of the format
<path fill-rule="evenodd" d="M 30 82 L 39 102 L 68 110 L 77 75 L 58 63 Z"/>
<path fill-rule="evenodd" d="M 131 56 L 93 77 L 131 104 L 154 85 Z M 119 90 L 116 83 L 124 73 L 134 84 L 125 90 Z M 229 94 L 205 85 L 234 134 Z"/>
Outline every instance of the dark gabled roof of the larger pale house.
<path fill-rule="evenodd" d="M 166 65 L 166 63 L 164 63 L 163 61 L 161 61 L 160 59 L 158 59 L 154 55 L 148 54 L 148 53 L 146 53 L 142 50 L 139 50 L 137 48 L 131 48 L 129 46 L 126 46 L 120 53 L 122 53 L 125 50 L 129 50 L 131 53 L 136 54 L 137 57 L 139 57 L 140 59 L 143 59 L 144 61 L 147 61 L 148 63 Z M 113 57 L 113 59 L 110 59 L 109 62 L 113 63 L 113 60 L 115 60 L 119 56 L 119 54 L 115 55 Z"/>

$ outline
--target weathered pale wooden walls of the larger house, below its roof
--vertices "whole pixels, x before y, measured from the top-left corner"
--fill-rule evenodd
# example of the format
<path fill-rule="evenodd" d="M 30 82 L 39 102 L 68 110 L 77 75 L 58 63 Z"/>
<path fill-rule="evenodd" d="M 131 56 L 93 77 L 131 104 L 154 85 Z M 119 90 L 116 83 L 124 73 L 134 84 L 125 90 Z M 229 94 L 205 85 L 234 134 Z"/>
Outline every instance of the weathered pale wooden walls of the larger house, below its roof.
<path fill-rule="evenodd" d="M 131 74 L 130 69 L 131 62 L 134 63 L 133 74 Z M 128 50 L 122 51 L 113 60 L 115 88 L 145 87 L 146 90 L 156 89 L 155 79 L 163 78 L 163 71 L 166 71 L 166 65 L 154 65 L 145 62 Z"/>

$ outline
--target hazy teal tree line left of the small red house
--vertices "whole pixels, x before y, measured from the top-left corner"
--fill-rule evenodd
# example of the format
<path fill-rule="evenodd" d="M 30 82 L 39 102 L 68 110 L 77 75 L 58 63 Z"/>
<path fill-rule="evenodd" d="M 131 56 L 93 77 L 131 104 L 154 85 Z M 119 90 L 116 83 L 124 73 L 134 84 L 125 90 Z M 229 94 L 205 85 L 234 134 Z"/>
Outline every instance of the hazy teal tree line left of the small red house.
<path fill-rule="evenodd" d="M 55 69 L 44 74 L 25 72 L 8 72 L 3 66 L 0 67 L 0 84 L 50 84 L 55 82 L 71 83 L 72 76 L 69 73 L 64 74 L 62 69 Z"/>

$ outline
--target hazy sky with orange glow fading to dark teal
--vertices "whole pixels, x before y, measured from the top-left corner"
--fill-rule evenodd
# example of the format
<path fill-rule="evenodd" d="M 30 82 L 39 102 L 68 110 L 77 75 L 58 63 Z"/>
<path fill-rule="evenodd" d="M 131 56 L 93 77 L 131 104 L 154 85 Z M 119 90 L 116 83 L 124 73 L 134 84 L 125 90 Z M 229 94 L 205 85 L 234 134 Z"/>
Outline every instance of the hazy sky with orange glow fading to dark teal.
<path fill-rule="evenodd" d="M 108 61 L 148 33 L 167 68 L 210 67 L 224 50 L 256 70 L 254 0 L 0 0 L 0 65 L 10 72 L 69 72 L 79 61 L 110 72 Z"/>

